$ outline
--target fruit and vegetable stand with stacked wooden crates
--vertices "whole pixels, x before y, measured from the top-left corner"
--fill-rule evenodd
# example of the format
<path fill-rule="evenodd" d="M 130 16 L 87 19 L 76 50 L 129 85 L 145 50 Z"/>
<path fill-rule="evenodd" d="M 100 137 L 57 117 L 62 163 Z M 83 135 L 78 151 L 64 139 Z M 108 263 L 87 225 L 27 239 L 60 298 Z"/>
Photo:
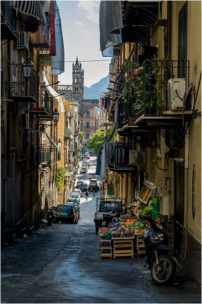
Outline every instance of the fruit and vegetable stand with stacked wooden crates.
<path fill-rule="evenodd" d="M 142 235 L 150 224 L 142 215 L 148 215 L 153 219 L 159 217 L 159 198 L 152 182 L 146 181 L 139 192 L 137 199 L 128 206 L 127 214 L 120 215 L 119 222 L 114 222 L 109 227 L 100 227 L 98 230 L 99 254 L 102 257 L 120 257 L 145 254 Z M 108 241 L 104 249 L 103 241 Z"/>

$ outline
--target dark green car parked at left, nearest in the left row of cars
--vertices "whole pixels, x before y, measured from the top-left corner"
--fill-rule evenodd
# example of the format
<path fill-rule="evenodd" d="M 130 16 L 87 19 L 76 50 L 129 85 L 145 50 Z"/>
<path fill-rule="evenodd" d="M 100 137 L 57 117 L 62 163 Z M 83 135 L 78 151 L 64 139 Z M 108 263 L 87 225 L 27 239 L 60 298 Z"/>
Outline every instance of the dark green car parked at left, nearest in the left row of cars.
<path fill-rule="evenodd" d="M 74 205 L 58 205 L 56 207 L 56 221 L 78 224 L 78 213 Z"/>

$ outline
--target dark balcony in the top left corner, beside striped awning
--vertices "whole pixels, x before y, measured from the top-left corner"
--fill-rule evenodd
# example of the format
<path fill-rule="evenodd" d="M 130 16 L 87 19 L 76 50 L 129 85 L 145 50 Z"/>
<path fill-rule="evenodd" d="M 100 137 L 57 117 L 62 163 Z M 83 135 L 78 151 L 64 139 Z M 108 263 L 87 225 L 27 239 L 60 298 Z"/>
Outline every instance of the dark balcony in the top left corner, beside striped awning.
<path fill-rule="evenodd" d="M 16 12 L 9 7 L 9 1 L 1 1 L 1 40 L 17 40 Z"/>

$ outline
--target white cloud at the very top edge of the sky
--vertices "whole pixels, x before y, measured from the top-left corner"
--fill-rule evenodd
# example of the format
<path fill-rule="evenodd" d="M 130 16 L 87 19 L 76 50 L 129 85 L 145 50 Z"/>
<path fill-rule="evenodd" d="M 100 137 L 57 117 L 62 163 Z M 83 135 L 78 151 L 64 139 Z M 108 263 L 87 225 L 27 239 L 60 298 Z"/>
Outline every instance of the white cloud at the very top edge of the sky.
<path fill-rule="evenodd" d="M 99 23 L 99 1 L 78 1 L 78 8 L 82 8 L 87 19 Z"/>

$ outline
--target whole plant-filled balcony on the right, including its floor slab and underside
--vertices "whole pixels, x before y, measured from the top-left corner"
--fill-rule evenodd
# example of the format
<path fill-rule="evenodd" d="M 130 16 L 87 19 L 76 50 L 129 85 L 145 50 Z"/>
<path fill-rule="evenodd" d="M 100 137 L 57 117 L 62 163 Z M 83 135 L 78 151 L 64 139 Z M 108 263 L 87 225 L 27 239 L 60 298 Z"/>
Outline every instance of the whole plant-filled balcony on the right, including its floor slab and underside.
<path fill-rule="evenodd" d="M 174 92 L 179 100 L 179 108 L 171 110 L 173 97 L 169 96 L 171 87 L 168 89 L 168 81 L 171 79 L 176 80 L 179 70 L 182 69 L 186 77 L 182 79 L 182 85 L 180 83 L 179 88 L 177 86 L 176 90 L 172 89 L 172 94 Z M 184 87 L 181 91 L 180 86 Z M 125 136 L 136 135 L 137 137 L 139 134 L 147 136 L 152 133 L 152 136 L 155 137 L 157 132 L 164 137 L 167 134 L 168 137 L 169 133 L 172 144 L 174 142 L 174 145 L 182 146 L 184 129 L 182 101 L 180 101 L 180 98 L 183 97 L 188 86 L 189 61 L 144 61 L 144 64 L 139 69 L 139 75 L 136 75 L 134 80 L 131 81 L 130 87 L 125 87 L 122 92 L 122 98 L 120 98 L 118 103 L 118 132 Z M 190 110 L 191 98 L 190 94 L 188 94 L 185 108 L 183 109 L 184 117 L 190 115 Z"/>

